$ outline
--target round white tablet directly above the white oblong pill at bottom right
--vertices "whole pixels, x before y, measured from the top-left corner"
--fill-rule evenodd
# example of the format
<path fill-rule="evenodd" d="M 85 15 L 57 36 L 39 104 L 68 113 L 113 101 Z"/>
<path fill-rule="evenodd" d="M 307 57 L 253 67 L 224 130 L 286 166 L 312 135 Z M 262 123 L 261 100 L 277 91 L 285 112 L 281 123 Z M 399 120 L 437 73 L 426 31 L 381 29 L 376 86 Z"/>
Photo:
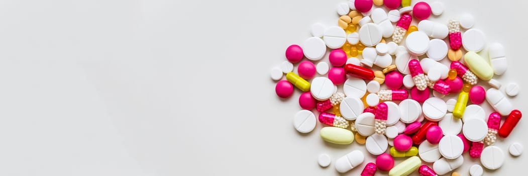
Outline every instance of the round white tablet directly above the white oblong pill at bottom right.
<path fill-rule="evenodd" d="M 462 142 L 460 137 L 455 135 L 444 136 L 440 140 L 440 143 L 438 143 L 438 150 L 444 158 L 453 160 L 462 155 L 464 142 Z"/>

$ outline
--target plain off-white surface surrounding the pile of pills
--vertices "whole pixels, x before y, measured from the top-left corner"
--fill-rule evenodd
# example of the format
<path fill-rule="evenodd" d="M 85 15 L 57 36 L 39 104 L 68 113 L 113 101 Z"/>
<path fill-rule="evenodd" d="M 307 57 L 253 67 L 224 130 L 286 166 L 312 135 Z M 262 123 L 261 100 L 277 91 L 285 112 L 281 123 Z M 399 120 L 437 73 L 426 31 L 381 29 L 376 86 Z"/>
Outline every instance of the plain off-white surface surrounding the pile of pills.
<path fill-rule="evenodd" d="M 337 175 L 317 156 L 364 146 L 325 143 L 321 125 L 297 133 L 300 92 L 277 98 L 269 70 L 310 25 L 336 25 L 341 2 L 0 1 L 0 175 Z M 433 20 L 473 14 L 506 47 L 509 70 L 495 78 L 528 86 L 528 2 L 444 3 Z M 526 95 L 515 107 L 527 110 Z M 507 146 L 528 146 L 527 123 L 497 142 L 506 162 L 485 174 L 525 171 Z M 345 175 L 374 161 L 365 154 Z M 479 162 L 464 156 L 467 175 Z"/>

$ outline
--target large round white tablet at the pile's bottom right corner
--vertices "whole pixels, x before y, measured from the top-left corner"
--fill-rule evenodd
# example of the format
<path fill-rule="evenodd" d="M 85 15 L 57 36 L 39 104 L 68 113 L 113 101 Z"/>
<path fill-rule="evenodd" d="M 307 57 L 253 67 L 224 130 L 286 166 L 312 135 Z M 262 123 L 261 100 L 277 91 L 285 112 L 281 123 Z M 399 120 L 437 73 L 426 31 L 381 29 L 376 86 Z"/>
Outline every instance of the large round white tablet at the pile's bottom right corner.
<path fill-rule="evenodd" d="M 504 163 L 504 158 L 505 156 L 502 149 L 495 145 L 491 145 L 482 150 L 482 154 L 480 154 L 480 163 L 482 163 L 484 168 L 495 170 L 501 168 Z"/>

